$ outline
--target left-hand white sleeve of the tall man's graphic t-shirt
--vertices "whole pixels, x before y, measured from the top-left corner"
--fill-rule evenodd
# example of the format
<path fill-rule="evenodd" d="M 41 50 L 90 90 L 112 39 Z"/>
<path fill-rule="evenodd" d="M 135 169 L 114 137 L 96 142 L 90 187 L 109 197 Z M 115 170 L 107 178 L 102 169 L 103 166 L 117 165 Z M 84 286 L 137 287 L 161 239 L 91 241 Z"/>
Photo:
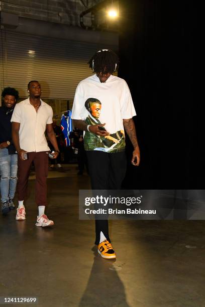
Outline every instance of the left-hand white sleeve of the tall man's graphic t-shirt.
<path fill-rule="evenodd" d="M 75 91 L 71 119 L 84 120 L 84 112 L 85 112 L 84 103 L 85 101 L 84 101 L 83 89 L 81 83 L 79 83 Z"/>

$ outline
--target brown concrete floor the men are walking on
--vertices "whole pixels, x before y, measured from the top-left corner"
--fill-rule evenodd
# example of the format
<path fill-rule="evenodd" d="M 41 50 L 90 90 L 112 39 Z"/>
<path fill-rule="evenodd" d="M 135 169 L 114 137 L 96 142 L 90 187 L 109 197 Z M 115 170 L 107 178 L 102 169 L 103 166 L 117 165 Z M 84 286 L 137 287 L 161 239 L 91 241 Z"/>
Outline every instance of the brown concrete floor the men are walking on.
<path fill-rule="evenodd" d="M 76 173 L 49 172 L 53 228 L 35 226 L 33 174 L 27 219 L 0 216 L 0 296 L 37 296 L 43 307 L 205 306 L 205 221 L 110 221 L 117 260 L 102 259 L 94 221 L 78 220 L 89 178 Z"/>

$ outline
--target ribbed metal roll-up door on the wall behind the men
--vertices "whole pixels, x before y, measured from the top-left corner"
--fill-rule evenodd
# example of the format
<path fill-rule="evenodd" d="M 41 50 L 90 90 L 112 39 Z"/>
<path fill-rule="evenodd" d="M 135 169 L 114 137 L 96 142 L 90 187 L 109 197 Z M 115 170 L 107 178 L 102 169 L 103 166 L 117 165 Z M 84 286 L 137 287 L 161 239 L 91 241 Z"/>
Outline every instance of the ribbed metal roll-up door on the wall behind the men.
<path fill-rule="evenodd" d="M 27 96 L 30 80 L 39 80 L 46 98 L 73 99 L 80 80 L 91 75 L 87 61 L 101 48 L 114 46 L 2 33 L 0 43 L 1 89 L 16 87 Z"/>

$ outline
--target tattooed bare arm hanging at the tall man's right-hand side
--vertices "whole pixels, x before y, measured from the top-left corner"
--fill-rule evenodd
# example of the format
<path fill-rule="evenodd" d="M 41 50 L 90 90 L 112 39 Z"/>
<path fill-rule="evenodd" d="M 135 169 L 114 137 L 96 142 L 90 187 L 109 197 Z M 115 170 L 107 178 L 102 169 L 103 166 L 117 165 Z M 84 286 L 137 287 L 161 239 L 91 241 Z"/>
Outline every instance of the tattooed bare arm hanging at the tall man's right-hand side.
<path fill-rule="evenodd" d="M 135 130 L 135 124 L 132 118 L 129 119 L 123 119 L 123 125 L 125 127 L 125 130 L 133 144 L 134 151 L 133 151 L 133 157 L 132 157 L 132 164 L 135 166 L 139 166 L 140 164 L 140 148 L 137 141 L 137 135 Z M 137 157 L 137 163 L 134 163 L 135 157 Z"/>

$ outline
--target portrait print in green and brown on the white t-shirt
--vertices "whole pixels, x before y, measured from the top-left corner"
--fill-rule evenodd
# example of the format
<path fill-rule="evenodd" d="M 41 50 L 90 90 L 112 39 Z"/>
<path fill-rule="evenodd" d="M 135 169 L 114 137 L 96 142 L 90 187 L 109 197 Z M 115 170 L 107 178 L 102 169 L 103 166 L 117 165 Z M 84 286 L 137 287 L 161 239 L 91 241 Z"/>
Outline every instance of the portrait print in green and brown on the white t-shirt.
<path fill-rule="evenodd" d="M 101 102 L 96 98 L 88 98 L 85 101 L 85 108 L 89 112 L 89 115 L 85 119 L 86 124 L 101 124 L 99 120 L 102 108 Z M 104 127 L 102 128 L 105 129 Z M 123 151 L 125 150 L 125 132 L 124 130 L 119 130 L 107 136 L 99 136 L 85 131 L 84 148 L 85 150 L 100 150 L 105 152 Z"/>

